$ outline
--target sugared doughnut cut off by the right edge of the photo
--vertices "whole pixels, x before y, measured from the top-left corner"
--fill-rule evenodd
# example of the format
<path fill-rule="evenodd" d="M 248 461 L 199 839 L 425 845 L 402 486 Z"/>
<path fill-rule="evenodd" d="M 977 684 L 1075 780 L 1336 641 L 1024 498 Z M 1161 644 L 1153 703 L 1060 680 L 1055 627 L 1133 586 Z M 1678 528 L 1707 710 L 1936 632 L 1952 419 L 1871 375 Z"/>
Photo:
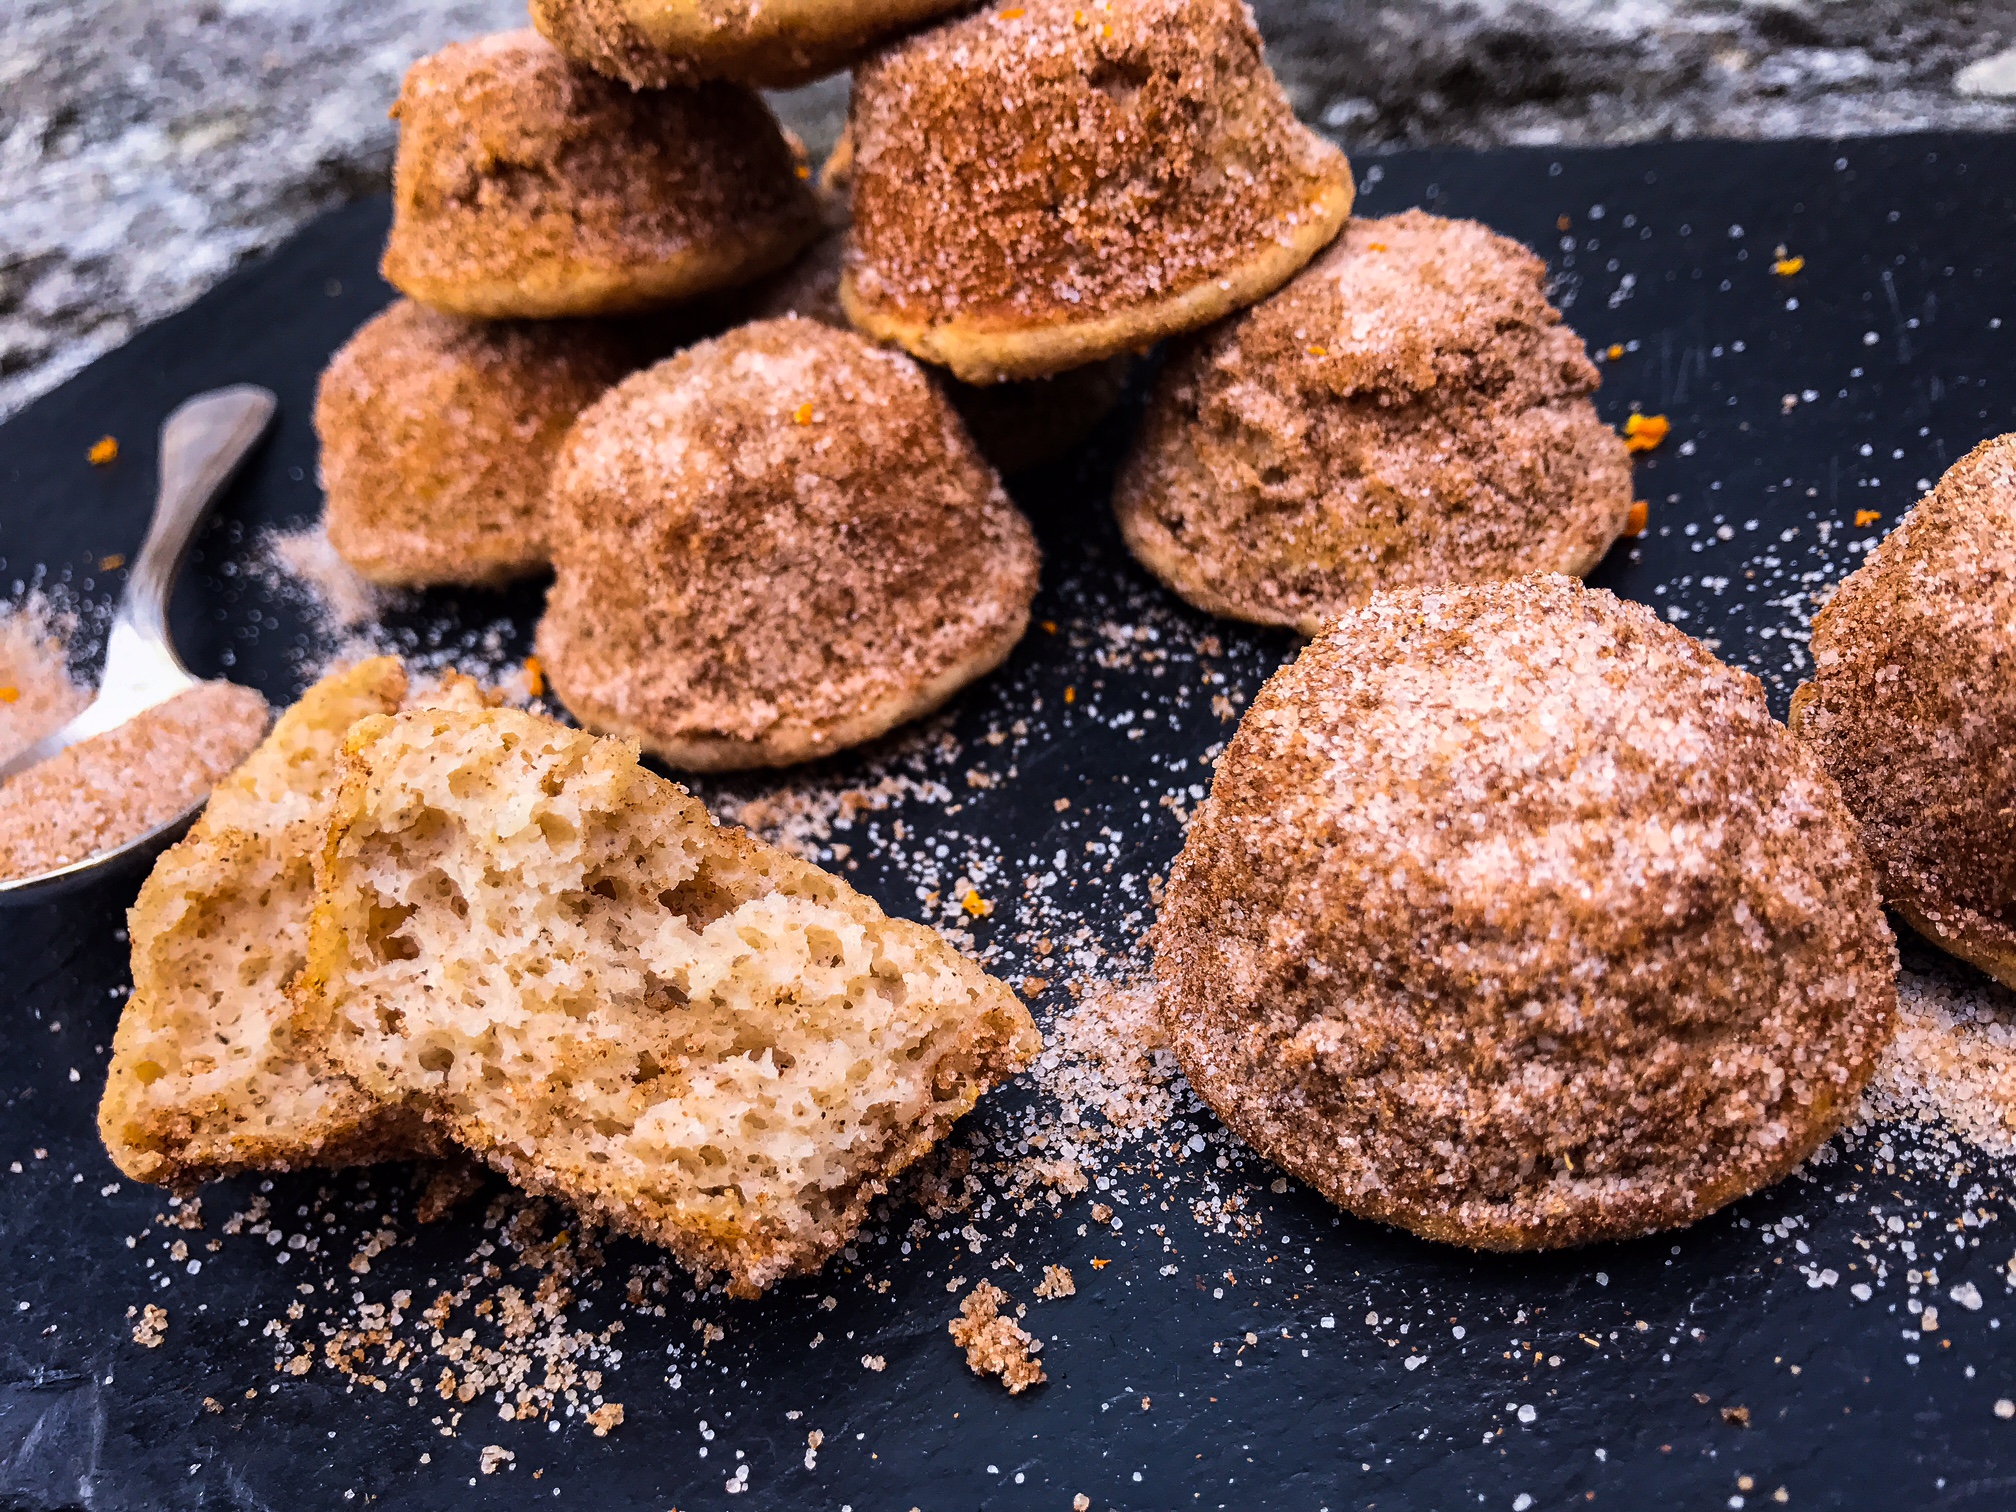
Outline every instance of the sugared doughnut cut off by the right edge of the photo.
<path fill-rule="evenodd" d="M 2016 433 L 1956 462 L 1814 617 L 1792 730 L 1885 901 L 2016 986 Z"/>

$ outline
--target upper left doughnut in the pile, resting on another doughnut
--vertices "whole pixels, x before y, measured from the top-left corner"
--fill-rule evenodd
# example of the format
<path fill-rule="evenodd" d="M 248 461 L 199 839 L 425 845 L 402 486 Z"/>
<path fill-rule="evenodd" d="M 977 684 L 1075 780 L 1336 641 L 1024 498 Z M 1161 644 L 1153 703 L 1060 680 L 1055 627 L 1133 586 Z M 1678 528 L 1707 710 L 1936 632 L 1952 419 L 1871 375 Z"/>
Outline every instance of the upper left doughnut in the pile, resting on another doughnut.
<path fill-rule="evenodd" d="M 732 288 L 818 236 L 804 167 L 750 91 L 633 91 L 536 32 L 405 75 L 385 278 L 478 319 L 619 314 Z"/>

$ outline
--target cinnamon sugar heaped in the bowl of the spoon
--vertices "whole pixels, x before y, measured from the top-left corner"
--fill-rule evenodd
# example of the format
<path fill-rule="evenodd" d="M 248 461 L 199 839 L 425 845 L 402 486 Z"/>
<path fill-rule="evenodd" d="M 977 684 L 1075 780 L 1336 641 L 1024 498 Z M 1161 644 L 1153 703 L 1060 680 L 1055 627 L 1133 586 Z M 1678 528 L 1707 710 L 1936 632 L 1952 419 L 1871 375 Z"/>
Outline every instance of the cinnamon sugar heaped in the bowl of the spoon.
<path fill-rule="evenodd" d="M 115 851 L 204 800 L 266 734 L 266 700 L 198 683 L 0 784 L 0 881 Z"/>

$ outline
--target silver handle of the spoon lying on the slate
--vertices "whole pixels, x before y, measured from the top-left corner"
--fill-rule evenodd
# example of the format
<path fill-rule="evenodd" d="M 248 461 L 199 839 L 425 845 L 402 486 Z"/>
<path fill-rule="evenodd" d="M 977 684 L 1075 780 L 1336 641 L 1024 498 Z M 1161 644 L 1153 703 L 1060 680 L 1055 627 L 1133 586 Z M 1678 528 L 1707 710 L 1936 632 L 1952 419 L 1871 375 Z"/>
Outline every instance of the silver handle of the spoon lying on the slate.
<path fill-rule="evenodd" d="M 157 643 L 175 659 L 167 639 L 167 597 L 181 552 L 210 500 L 266 431 L 276 403 L 268 389 L 238 383 L 196 395 L 161 423 L 161 492 L 155 494 L 153 522 L 127 579 L 115 631 L 129 625 L 139 639 Z M 109 661 L 107 679 L 113 673 Z"/>

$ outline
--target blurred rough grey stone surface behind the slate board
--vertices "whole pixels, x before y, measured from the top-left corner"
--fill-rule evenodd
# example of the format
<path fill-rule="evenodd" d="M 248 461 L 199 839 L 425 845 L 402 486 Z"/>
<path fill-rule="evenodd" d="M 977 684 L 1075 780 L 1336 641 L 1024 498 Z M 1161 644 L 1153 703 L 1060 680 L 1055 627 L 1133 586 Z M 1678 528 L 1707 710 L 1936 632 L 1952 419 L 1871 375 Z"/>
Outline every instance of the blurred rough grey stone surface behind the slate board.
<path fill-rule="evenodd" d="M 2016 0 L 1256 0 L 1355 151 L 2016 127 Z M 0 6 L 0 417 L 373 194 L 419 54 L 522 0 Z M 845 79 L 780 95 L 814 151 Z"/>

